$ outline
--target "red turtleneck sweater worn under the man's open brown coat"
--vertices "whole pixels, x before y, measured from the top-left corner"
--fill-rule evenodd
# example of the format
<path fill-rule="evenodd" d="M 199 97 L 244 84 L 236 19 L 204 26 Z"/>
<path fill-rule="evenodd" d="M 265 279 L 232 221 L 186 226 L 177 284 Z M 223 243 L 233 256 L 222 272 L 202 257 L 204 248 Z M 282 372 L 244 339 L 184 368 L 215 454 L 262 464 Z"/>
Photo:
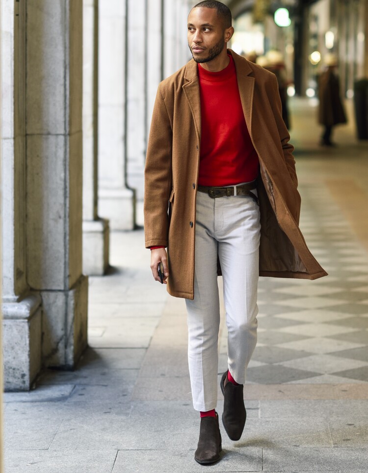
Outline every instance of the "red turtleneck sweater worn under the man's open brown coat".
<path fill-rule="evenodd" d="M 249 136 L 237 86 L 234 59 L 219 72 L 198 65 L 202 136 L 198 184 L 230 186 L 258 175 L 258 156 Z"/>

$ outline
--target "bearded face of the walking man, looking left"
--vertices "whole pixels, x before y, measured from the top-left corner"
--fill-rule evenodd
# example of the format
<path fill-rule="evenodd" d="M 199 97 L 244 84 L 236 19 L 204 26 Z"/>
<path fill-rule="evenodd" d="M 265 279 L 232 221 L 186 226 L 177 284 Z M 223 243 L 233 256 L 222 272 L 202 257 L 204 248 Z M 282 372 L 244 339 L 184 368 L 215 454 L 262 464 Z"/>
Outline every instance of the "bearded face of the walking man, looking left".
<path fill-rule="evenodd" d="M 193 59 L 209 62 L 218 56 L 226 48 L 228 30 L 217 17 L 215 8 L 193 8 L 188 16 L 188 46 Z"/>

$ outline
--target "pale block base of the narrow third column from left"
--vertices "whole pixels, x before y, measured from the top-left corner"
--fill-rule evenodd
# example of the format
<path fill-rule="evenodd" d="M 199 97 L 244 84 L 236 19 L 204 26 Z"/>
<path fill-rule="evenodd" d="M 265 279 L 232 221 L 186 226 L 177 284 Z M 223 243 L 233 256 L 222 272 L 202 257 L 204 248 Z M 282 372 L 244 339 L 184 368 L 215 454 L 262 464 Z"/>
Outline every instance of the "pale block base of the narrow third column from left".
<path fill-rule="evenodd" d="M 108 220 L 83 220 L 83 274 L 102 276 L 108 268 Z"/>

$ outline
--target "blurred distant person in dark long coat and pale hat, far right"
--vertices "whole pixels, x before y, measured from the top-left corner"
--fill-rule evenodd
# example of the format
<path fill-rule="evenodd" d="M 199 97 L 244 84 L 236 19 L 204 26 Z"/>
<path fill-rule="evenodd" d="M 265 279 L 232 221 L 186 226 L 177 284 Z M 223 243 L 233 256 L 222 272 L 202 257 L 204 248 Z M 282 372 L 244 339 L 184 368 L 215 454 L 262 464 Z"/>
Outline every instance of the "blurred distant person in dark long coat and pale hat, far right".
<path fill-rule="evenodd" d="M 338 60 L 334 54 L 326 54 L 325 71 L 318 78 L 318 123 L 324 125 L 321 146 L 335 146 L 331 141 L 333 127 L 346 123 L 346 115 L 340 98 L 340 81 L 337 75 Z"/>

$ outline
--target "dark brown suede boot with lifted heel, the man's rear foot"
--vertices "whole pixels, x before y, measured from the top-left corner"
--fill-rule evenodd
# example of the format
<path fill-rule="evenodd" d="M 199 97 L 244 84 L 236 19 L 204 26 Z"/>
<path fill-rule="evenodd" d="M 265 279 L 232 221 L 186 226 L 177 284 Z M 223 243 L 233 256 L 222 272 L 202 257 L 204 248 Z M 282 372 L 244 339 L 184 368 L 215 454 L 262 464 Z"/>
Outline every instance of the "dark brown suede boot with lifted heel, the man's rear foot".
<path fill-rule="evenodd" d="M 239 440 L 243 433 L 247 413 L 244 407 L 243 385 L 235 386 L 231 381 L 227 381 L 228 372 L 222 375 L 221 391 L 224 395 L 224 412 L 222 423 L 226 433 L 231 440 Z"/>

